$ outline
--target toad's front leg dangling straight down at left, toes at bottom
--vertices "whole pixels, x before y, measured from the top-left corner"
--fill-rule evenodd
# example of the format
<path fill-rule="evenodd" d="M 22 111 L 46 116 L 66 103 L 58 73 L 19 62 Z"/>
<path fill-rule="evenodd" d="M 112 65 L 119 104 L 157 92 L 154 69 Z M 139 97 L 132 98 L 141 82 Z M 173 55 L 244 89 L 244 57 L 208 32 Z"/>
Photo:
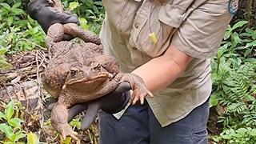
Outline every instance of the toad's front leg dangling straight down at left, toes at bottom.
<path fill-rule="evenodd" d="M 65 97 L 66 98 L 66 97 Z M 64 97 L 59 97 L 57 104 L 54 106 L 52 112 L 50 121 L 52 126 L 60 133 L 62 134 L 62 138 L 66 139 L 66 136 L 70 136 L 74 138 L 75 140 L 78 140 L 78 138 L 75 136 L 77 133 L 72 130 L 72 128 L 69 126 L 67 120 L 68 120 L 68 106 L 73 103 L 70 102 L 70 100 L 66 100 Z M 67 102 L 70 102 L 67 104 Z"/>

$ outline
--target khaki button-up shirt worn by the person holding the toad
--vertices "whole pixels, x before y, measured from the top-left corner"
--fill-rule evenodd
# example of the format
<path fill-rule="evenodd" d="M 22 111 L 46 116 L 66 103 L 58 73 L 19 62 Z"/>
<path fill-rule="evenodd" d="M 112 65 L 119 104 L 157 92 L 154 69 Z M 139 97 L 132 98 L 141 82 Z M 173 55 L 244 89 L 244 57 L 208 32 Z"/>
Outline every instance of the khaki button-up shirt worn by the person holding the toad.
<path fill-rule="evenodd" d="M 206 102 L 211 92 L 210 57 L 216 54 L 232 15 L 229 0 L 103 0 L 106 19 L 100 38 L 106 54 L 132 72 L 174 45 L 194 59 L 170 86 L 146 98 L 167 126 Z M 157 36 L 154 43 L 150 33 Z M 164 77 L 164 76 L 163 76 Z"/>

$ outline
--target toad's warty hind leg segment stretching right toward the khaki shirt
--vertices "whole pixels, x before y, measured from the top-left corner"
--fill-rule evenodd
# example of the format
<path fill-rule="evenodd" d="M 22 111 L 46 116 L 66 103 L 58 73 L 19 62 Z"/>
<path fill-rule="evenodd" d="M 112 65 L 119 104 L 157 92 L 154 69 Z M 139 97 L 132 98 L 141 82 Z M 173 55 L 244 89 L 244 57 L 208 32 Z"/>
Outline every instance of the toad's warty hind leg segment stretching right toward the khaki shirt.
<path fill-rule="evenodd" d="M 92 42 L 97 45 L 101 44 L 101 40 L 96 34 L 89 30 L 83 30 L 75 23 L 67 23 L 64 26 L 64 33 L 72 35 L 74 38 L 81 38 L 84 42 Z"/>

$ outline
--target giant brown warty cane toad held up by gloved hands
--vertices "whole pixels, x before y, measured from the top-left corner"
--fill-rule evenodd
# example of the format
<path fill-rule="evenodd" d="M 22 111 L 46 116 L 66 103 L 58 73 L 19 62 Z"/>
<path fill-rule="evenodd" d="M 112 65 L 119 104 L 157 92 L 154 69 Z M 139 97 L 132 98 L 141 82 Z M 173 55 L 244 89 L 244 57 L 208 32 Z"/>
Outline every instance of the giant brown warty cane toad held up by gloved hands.
<path fill-rule="evenodd" d="M 82 38 L 84 42 L 62 41 L 64 34 Z M 118 62 L 103 54 L 97 36 L 76 24 L 55 23 L 50 26 L 46 46 L 51 58 L 42 82 L 46 91 L 58 98 L 51 113 L 51 122 L 63 138 L 70 135 L 77 139 L 67 122 L 70 106 L 100 98 L 113 91 L 120 82 L 130 83 L 134 91 L 131 98 L 142 101 L 147 94 L 152 96 L 142 78 L 121 73 Z"/>

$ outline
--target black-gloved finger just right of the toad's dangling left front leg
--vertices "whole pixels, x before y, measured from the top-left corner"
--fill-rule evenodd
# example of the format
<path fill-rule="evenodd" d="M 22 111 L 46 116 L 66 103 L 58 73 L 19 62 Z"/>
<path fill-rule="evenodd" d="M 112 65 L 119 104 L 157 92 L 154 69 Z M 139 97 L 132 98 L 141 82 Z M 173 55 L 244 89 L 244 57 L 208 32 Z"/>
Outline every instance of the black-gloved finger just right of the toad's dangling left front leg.
<path fill-rule="evenodd" d="M 77 114 L 81 113 L 84 110 L 87 110 L 87 108 L 88 108 L 88 105 L 86 103 L 78 104 L 71 107 L 70 110 L 68 110 L 67 121 L 70 122 L 74 118 L 74 116 L 76 116 Z"/>

